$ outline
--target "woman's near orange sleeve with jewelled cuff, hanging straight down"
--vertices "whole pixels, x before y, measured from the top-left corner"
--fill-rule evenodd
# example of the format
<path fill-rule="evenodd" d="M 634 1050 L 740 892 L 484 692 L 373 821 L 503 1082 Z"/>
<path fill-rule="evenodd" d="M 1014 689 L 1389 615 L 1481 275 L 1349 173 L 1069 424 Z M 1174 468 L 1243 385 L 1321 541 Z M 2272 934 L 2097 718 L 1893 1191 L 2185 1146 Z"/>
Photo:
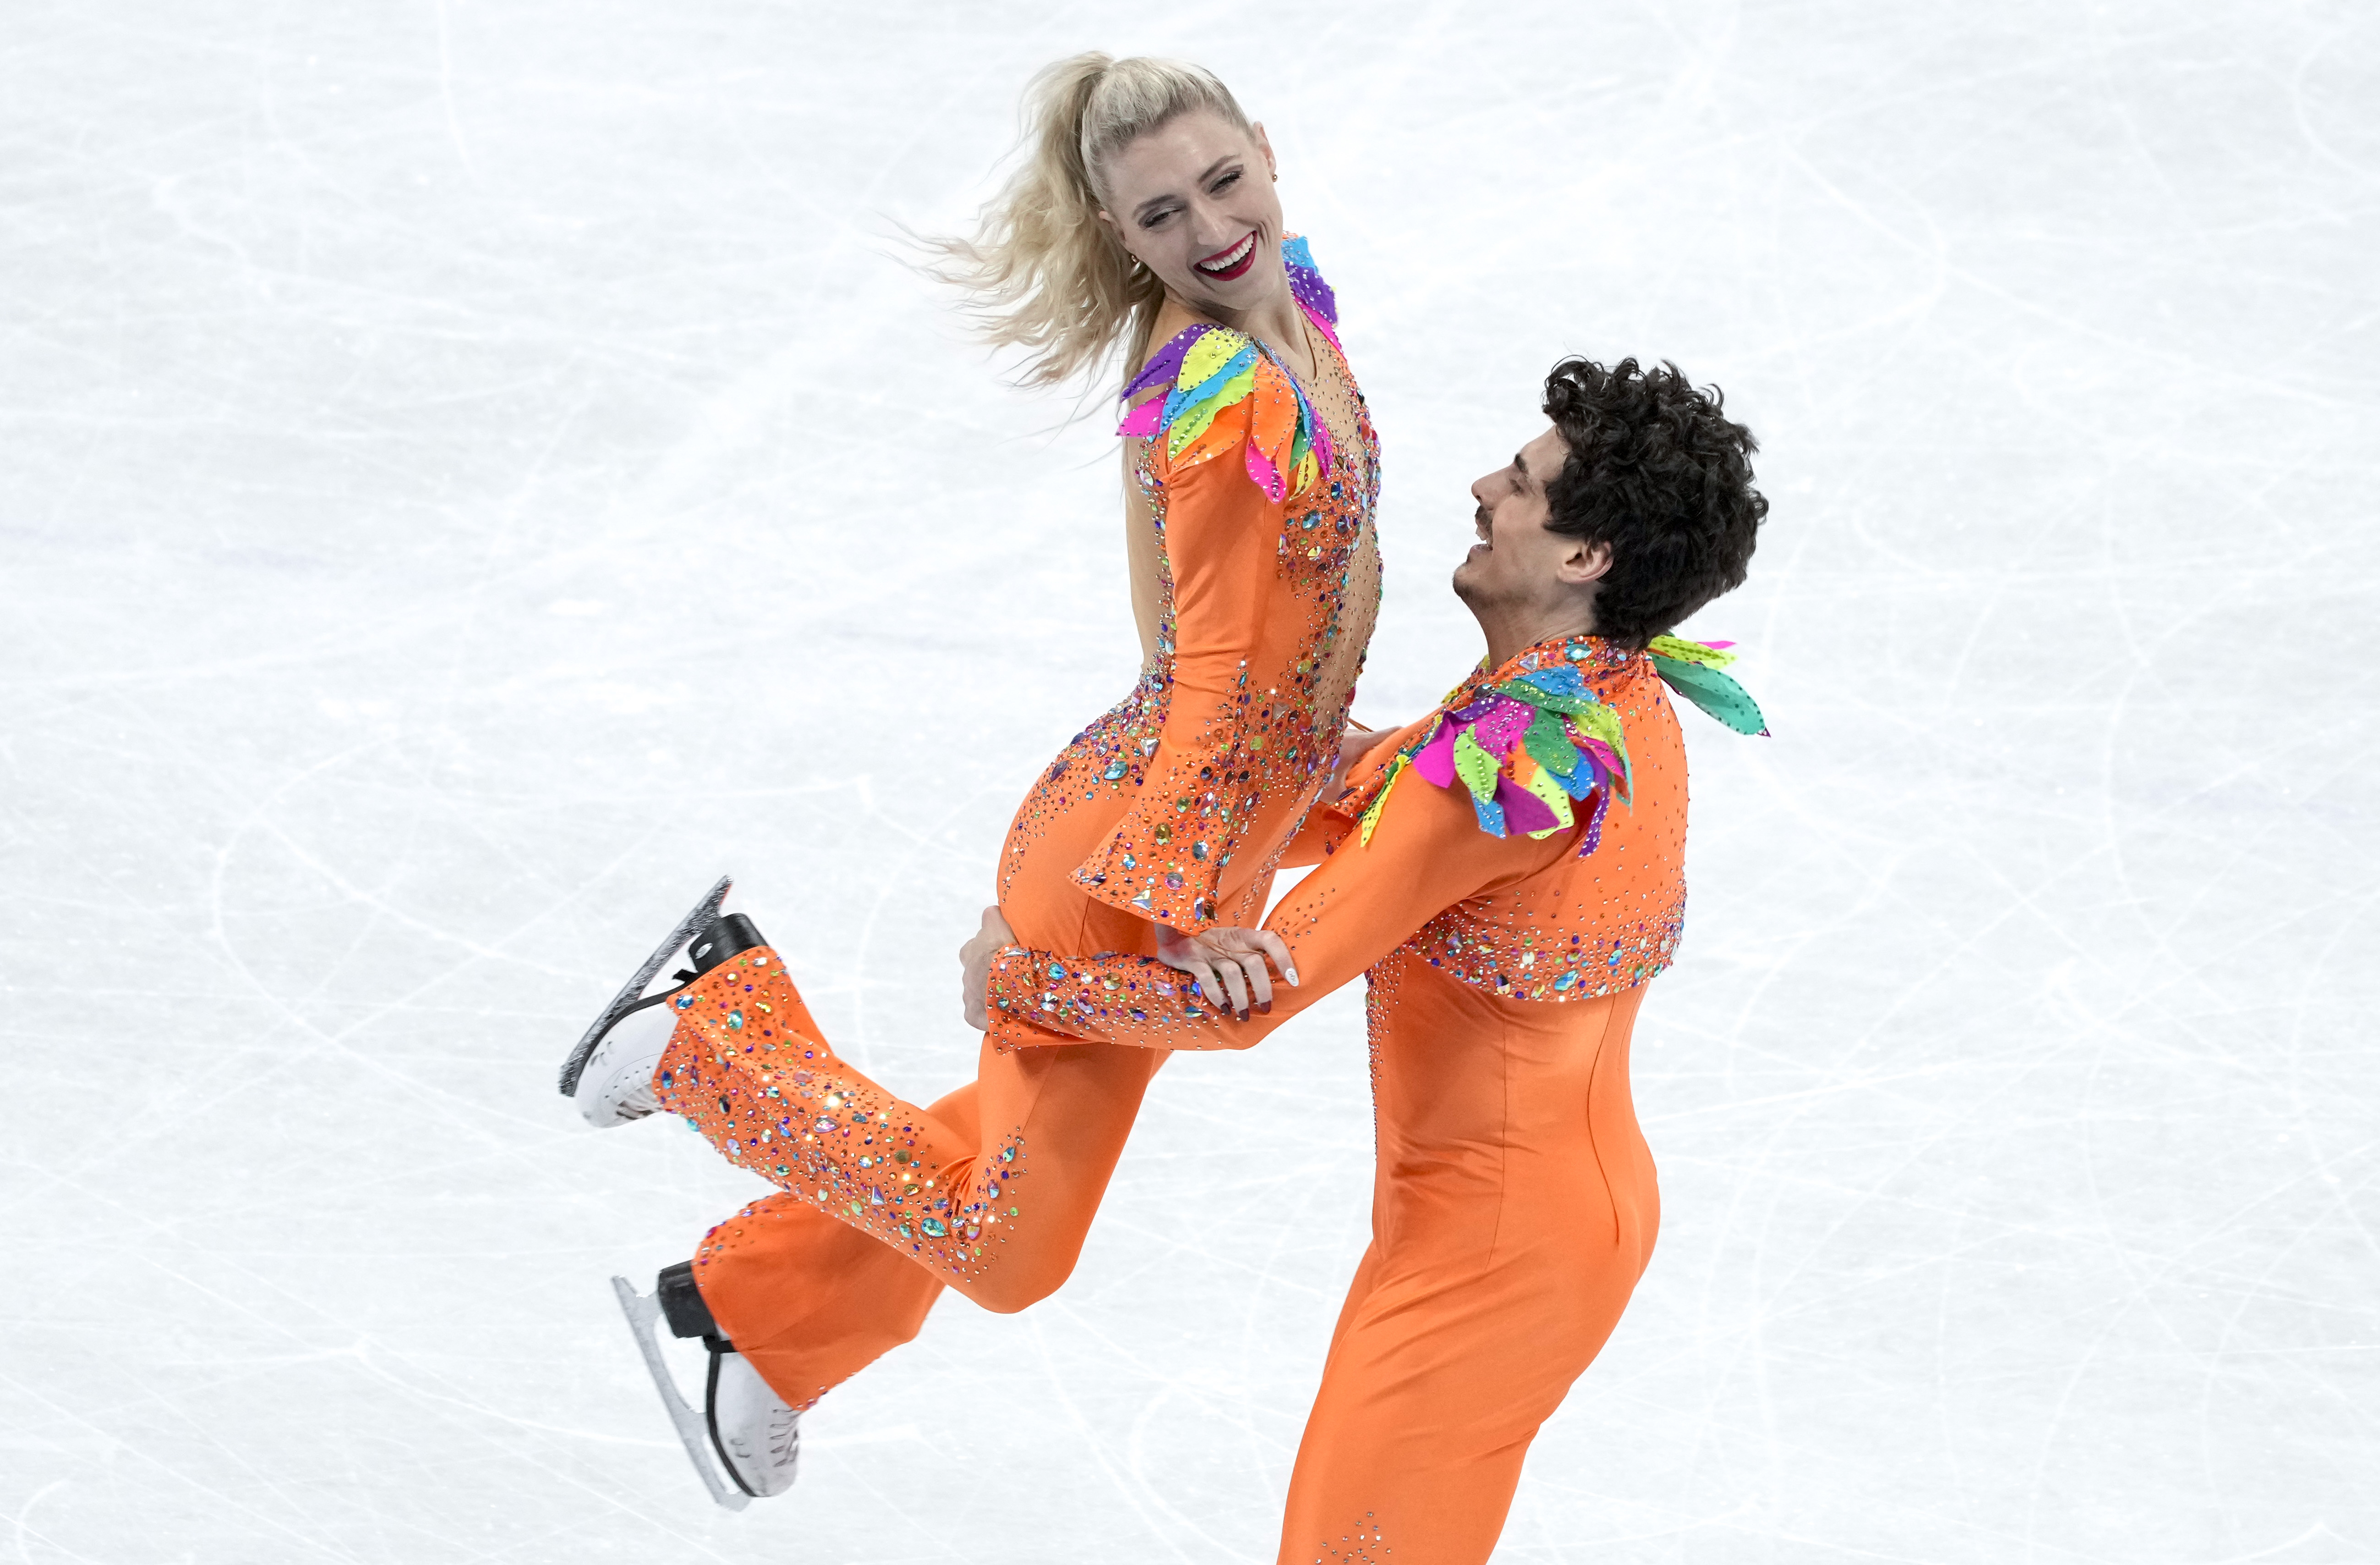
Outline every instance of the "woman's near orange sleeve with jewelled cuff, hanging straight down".
<path fill-rule="evenodd" d="M 1166 469 L 1176 636 L 1166 719 L 1147 760 L 1121 757 L 1140 774 L 1130 808 L 1076 869 L 1102 903 L 1185 931 L 1214 922 L 1216 881 L 1235 853 L 1271 848 L 1242 838 L 1259 803 L 1250 746 L 1264 743 L 1266 703 L 1285 686 L 1278 669 L 1252 667 L 1278 596 L 1288 510 L 1245 457 L 1261 400 L 1257 391 L 1221 407 Z"/>

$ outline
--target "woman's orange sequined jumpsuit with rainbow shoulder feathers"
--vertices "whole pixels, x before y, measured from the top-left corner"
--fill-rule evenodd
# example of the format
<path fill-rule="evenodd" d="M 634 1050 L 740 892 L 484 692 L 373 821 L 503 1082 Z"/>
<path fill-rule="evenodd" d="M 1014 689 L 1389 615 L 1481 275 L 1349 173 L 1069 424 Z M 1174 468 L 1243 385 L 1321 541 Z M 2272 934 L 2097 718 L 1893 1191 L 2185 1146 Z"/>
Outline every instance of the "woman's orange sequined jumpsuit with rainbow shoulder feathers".
<path fill-rule="evenodd" d="M 1157 919 L 1254 922 L 1338 762 L 1380 600 L 1378 443 L 1330 291 L 1304 241 L 1283 250 L 1311 395 L 1216 326 L 1152 357 L 1166 395 L 1135 476 L 1161 545 L 1157 650 L 1009 824 L 1000 910 L 1031 946 L 1154 953 Z M 771 950 L 695 993 L 662 1105 L 781 1186 L 704 1236 L 695 1282 L 797 1408 L 909 1341 L 945 1286 L 992 1310 L 1054 1291 L 1166 1058 L 985 1039 L 976 1079 L 919 1105 L 826 1046 Z"/>

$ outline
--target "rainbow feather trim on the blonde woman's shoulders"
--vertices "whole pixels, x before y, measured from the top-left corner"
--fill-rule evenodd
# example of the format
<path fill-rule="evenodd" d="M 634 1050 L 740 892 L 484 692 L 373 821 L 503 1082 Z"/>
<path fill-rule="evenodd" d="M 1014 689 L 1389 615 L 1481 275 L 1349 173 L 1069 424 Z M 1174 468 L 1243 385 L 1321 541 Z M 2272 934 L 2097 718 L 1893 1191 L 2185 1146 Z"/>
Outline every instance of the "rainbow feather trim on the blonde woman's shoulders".
<path fill-rule="evenodd" d="M 1338 300 L 1314 269 L 1307 241 L 1283 243 L 1280 260 L 1297 305 L 1338 345 Z M 1133 403 L 1159 386 L 1164 395 Z M 1200 322 L 1183 329 L 1133 376 L 1123 400 L 1130 410 L 1116 434 L 1152 441 L 1161 436 L 1166 460 L 1176 464 L 1204 462 L 1240 445 L 1250 481 L 1273 503 L 1302 495 L 1330 476 L 1330 426 L 1314 414 L 1304 386 L 1264 343 L 1230 326 Z M 1245 424 L 1235 412 L 1242 403 Z"/>

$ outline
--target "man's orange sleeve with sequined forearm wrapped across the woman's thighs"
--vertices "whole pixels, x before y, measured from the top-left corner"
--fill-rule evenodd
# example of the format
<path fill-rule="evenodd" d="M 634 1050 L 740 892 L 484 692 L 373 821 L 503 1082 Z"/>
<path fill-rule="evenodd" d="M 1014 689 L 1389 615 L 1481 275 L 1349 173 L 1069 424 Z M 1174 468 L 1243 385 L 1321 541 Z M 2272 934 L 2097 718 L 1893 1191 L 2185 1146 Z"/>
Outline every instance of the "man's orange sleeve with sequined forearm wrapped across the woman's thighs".
<path fill-rule="evenodd" d="M 1247 1048 L 1352 981 L 1454 903 L 1533 874 L 1573 853 L 1549 841 L 1478 829 L 1461 788 L 1407 788 L 1371 841 L 1342 836 L 1273 917 L 1299 984 L 1273 984 L 1273 1012 L 1233 1020 L 1197 998 L 1188 974 L 1157 958 L 1081 958 L 1012 946 L 990 967 L 985 1012 L 997 1043 L 1135 1043 L 1142 1048 Z"/>

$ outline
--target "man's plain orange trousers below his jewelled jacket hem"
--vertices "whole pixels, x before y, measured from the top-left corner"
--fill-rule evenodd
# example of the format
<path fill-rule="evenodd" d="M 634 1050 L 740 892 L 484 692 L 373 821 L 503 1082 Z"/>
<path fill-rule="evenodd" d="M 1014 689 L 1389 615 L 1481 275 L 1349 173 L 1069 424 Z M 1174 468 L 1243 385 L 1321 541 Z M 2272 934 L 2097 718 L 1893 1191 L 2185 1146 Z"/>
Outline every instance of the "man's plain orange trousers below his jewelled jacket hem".
<path fill-rule="evenodd" d="M 1652 1255 L 1645 991 L 1499 1000 L 1402 953 L 1368 996 L 1373 1243 L 1297 1448 L 1280 1565 L 1466 1565 Z"/>

